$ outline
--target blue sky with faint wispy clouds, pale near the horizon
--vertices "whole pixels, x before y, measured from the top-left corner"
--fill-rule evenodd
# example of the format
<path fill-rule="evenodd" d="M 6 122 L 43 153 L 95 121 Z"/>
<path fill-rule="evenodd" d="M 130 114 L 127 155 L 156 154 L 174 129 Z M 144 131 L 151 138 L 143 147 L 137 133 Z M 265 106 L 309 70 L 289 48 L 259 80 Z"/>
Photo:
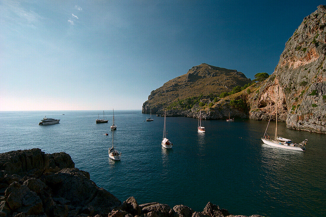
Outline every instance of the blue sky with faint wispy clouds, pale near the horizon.
<path fill-rule="evenodd" d="M 321 4 L 0 0 L 0 111 L 138 110 L 201 63 L 271 74 Z"/>

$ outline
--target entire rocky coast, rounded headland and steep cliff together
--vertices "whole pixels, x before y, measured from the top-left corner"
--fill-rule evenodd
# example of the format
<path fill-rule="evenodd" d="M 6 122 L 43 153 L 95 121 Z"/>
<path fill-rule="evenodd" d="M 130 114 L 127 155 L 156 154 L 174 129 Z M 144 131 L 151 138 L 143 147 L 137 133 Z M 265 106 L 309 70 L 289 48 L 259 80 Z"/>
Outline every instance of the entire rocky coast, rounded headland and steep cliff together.
<path fill-rule="evenodd" d="M 320 5 L 286 42 L 274 72 L 265 81 L 246 87 L 251 81 L 243 73 L 201 64 L 152 91 L 142 112 L 153 108 L 153 113 L 162 114 L 165 108 L 169 116 L 198 118 L 201 110 L 203 119 L 227 118 L 230 113 L 236 118 L 269 120 L 272 116 L 275 120 L 277 101 L 277 119 L 285 121 L 288 128 L 326 133 L 325 55 L 326 6 Z M 230 92 L 237 85 L 246 88 Z M 166 93 L 170 95 L 164 96 Z"/>

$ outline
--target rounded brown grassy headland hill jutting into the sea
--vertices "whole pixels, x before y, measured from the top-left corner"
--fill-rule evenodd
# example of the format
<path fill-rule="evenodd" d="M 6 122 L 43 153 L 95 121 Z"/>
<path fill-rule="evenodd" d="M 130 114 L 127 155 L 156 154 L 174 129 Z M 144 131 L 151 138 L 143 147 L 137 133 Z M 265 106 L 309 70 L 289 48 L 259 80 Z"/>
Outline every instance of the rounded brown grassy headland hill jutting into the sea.
<path fill-rule="evenodd" d="M 171 79 L 163 86 L 153 90 L 148 101 L 143 103 L 142 113 L 164 113 L 170 110 L 170 116 L 186 116 L 191 112 L 193 104 L 205 98 L 215 98 L 222 92 L 230 91 L 233 87 L 244 86 L 252 82 L 237 70 L 219 68 L 202 63 L 194 66 L 184 75 Z M 192 98 L 192 99 L 190 99 Z M 194 99 L 196 98 L 196 99 Z M 199 99 L 198 99 L 199 98 Z M 185 100 L 185 106 L 174 106 L 175 103 Z M 195 102 L 197 100 L 197 102 Z M 174 103 L 174 104 L 173 104 Z M 172 111 L 175 108 L 174 112 Z M 181 114 L 182 113 L 182 114 Z"/>

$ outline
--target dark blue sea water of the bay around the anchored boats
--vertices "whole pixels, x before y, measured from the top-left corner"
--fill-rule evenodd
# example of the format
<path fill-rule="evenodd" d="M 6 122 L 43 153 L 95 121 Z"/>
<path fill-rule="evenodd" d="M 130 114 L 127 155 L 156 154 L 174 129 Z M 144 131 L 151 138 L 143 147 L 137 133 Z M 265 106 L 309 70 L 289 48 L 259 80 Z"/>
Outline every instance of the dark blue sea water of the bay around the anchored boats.
<path fill-rule="evenodd" d="M 326 135 L 286 129 L 278 133 L 301 142 L 305 152 L 264 145 L 267 122 L 203 121 L 167 117 L 172 149 L 161 147 L 164 117 L 141 111 L 115 111 L 114 144 L 122 160 L 108 157 L 112 144 L 108 124 L 96 124 L 101 111 L 0 112 L 0 152 L 41 148 L 65 151 L 97 186 L 121 201 L 134 196 L 141 203 L 184 204 L 202 211 L 208 201 L 232 214 L 322 216 L 326 213 Z M 65 114 L 65 115 L 62 115 Z M 38 126 L 44 117 L 60 124 Z M 112 111 L 106 111 L 109 119 Z M 269 134 L 274 135 L 274 123 Z M 109 136 L 103 135 L 109 132 Z"/>

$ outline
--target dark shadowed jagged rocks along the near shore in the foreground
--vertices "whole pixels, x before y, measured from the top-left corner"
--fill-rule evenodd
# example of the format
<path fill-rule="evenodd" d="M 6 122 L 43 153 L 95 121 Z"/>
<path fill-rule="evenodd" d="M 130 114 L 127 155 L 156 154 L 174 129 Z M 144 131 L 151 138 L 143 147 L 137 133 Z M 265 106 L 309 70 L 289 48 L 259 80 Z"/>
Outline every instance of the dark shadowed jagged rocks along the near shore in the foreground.
<path fill-rule="evenodd" d="M 139 205 L 121 201 L 75 168 L 65 152 L 45 154 L 39 148 L 0 154 L 0 216 L 233 217 L 208 203 L 202 212 L 184 205 Z M 240 216 L 239 216 L 240 217 Z M 251 217 L 259 217 L 252 215 Z"/>

